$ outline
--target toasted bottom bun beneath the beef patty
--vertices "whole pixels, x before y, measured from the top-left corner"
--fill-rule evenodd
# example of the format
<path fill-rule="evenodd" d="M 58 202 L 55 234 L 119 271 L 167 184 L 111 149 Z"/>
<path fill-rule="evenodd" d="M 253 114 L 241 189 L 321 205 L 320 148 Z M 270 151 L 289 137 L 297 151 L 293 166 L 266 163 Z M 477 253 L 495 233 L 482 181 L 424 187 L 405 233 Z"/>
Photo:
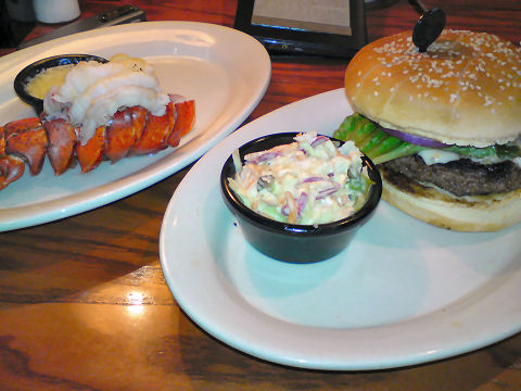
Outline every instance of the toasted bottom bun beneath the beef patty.
<path fill-rule="evenodd" d="M 380 168 L 380 167 L 379 167 Z M 382 198 L 408 215 L 458 231 L 497 231 L 521 222 L 521 189 L 507 193 L 456 197 L 442 189 L 386 176 Z"/>

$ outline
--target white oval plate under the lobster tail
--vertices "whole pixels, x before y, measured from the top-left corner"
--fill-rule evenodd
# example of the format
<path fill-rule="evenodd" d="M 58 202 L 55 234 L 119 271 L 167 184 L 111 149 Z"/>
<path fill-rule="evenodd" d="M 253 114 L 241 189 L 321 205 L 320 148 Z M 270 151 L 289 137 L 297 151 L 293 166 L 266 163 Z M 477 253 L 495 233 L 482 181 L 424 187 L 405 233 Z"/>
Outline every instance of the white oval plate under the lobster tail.
<path fill-rule="evenodd" d="M 271 63 L 252 37 L 218 25 L 145 22 L 100 28 L 40 43 L 0 59 L 0 124 L 34 116 L 15 94 L 16 74 L 31 62 L 64 53 L 142 56 L 154 64 L 162 88 L 195 100 L 195 127 L 179 148 L 153 156 L 103 162 L 54 177 L 49 162 L 31 177 L 0 191 L 0 230 L 10 230 L 107 204 L 144 189 L 199 159 L 233 131 L 257 105 L 269 84 Z"/>

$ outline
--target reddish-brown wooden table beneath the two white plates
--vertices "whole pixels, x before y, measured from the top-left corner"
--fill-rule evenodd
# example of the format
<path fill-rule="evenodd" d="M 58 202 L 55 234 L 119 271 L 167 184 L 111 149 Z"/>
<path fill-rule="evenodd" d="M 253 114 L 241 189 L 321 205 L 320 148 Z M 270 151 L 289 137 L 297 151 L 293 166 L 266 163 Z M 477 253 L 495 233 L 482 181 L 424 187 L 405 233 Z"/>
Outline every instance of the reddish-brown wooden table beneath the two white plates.
<path fill-rule="evenodd" d="M 85 0 L 81 17 L 134 3 L 149 21 L 231 26 L 237 2 Z M 427 1 L 447 26 L 519 43 L 519 0 Z M 410 29 L 407 1 L 368 14 L 369 38 Z M 55 26 L 37 25 L 28 38 Z M 10 50 L 2 49 L 1 54 Z M 346 62 L 272 64 L 249 121 L 342 87 Z M 187 169 L 124 200 L 38 227 L 0 234 L 1 390 L 521 390 L 521 335 L 462 356 L 395 370 L 327 373 L 244 355 L 178 307 L 158 262 L 166 205 Z M 141 295 L 134 305 L 132 292 Z"/>

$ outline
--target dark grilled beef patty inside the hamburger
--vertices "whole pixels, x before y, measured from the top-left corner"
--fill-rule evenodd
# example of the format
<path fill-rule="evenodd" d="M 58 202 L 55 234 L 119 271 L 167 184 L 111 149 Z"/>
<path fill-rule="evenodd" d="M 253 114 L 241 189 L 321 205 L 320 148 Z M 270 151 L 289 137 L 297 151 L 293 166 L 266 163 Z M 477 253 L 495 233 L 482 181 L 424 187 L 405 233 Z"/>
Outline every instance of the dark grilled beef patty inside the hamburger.
<path fill-rule="evenodd" d="M 486 195 L 521 188 L 521 167 L 513 162 L 479 164 L 460 159 L 445 164 L 428 165 L 419 155 L 405 156 L 381 164 L 391 176 L 435 185 L 462 195 Z"/>

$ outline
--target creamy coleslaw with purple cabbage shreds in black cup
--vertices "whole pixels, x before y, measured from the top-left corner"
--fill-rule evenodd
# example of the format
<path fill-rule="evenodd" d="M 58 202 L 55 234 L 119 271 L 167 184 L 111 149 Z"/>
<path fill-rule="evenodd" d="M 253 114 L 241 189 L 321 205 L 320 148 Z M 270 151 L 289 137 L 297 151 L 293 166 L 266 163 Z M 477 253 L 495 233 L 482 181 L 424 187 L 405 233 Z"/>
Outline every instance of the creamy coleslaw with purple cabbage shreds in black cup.
<path fill-rule="evenodd" d="M 354 142 L 336 148 L 316 133 L 251 153 L 244 156 L 244 165 L 237 151 L 232 156 L 231 189 L 247 207 L 279 222 L 318 225 L 348 217 L 371 186 Z"/>

